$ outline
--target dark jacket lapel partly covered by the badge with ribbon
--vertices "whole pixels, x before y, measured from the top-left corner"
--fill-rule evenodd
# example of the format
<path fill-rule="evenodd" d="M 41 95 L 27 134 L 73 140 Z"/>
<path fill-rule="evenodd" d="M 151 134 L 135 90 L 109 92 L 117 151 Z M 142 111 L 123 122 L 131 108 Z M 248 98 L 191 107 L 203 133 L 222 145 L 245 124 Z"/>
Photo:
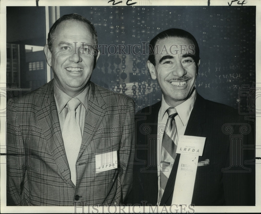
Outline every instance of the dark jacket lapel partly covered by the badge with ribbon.
<path fill-rule="evenodd" d="M 205 123 L 205 111 L 206 111 L 205 99 L 197 93 L 195 104 L 191 111 L 184 135 L 199 136 L 199 137 L 201 136 L 202 124 Z M 179 159 L 180 159 L 180 154 L 177 154 L 172 170 L 170 172 L 168 182 L 166 184 L 164 194 L 161 199 L 161 204 L 160 204 L 161 206 L 164 204 L 171 205 L 174 185 L 175 185 L 175 180 L 177 175 L 177 168 L 179 165 Z"/>

